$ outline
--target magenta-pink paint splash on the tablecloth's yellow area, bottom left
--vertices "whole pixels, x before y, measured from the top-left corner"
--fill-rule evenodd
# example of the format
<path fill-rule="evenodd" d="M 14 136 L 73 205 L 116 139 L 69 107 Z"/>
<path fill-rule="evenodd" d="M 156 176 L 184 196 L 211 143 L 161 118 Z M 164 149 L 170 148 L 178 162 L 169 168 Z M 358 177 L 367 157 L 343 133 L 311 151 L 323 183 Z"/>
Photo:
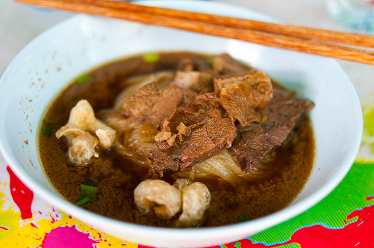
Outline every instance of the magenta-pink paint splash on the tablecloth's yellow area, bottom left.
<path fill-rule="evenodd" d="M 100 240 L 89 238 L 89 234 L 80 232 L 75 226 L 58 227 L 46 233 L 41 248 L 93 248 Z"/>

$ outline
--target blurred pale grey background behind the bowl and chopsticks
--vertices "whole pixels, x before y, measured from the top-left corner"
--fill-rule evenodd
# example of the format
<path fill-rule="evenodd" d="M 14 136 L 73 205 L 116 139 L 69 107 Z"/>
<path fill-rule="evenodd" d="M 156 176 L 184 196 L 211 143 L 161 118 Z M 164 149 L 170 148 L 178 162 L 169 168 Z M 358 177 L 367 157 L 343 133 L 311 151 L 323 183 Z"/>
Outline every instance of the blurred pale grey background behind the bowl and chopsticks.
<path fill-rule="evenodd" d="M 374 33 L 374 0 L 217 1 L 250 8 L 287 24 Z M 30 40 L 73 15 L 21 5 L 12 0 L 0 0 L 0 75 L 12 58 Z M 364 88 L 362 85 L 366 80 L 374 81 L 374 67 L 346 61 L 339 61 L 339 63 L 355 84 L 360 99 L 364 102 L 373 101 L 374 87 L 368 89 L 367 86 Z"/>

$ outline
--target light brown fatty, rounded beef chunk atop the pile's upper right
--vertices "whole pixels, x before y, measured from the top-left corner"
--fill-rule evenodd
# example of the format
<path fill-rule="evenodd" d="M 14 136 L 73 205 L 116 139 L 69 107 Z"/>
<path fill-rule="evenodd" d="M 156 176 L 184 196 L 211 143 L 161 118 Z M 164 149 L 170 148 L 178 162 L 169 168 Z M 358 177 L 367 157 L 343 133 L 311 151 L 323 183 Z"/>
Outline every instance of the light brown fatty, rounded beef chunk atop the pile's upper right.
<path fill-rule="evenodd" d="M 242 127 L 265 120 L 265 116 L 257 110 L 268 105 L 273 97 L 273 86 L 264 72 L 249 70 L 242 76 L 217 78 L 214 81 L 222 106 Z"/>

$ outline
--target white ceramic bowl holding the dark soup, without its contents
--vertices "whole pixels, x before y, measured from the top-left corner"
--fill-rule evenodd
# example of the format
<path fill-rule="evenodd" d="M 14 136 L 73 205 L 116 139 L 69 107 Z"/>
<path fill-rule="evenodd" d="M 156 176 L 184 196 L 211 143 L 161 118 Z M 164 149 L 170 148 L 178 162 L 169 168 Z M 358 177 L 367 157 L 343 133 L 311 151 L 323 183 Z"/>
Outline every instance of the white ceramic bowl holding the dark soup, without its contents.
<path fill-rule="evenodd" d="M 271 21 L 253 11 L 217 2 L 141 3 Z M 305 189 L 289 207 L 231 226 L 154 228 L 87 212 L 62 199 L 49 184 L 40 168 L 35 144 L 40 120 L 53 97 L 78 75 L 106 62 L 142 52 L 173 50 L 228 52 L 315 102 L 311 113 L 317 143 L 315 166 Z M 358 96 L 346 73 L 333 59 L 86 15 L 54 26 L 24 47 L 1 78 L 0 96 L 1 153 L 35 194 L 107 234 L 156 247 L 193 248 L 232 242 L 302 213 L 343 179 L 355 159 L 362 134 Z"/>

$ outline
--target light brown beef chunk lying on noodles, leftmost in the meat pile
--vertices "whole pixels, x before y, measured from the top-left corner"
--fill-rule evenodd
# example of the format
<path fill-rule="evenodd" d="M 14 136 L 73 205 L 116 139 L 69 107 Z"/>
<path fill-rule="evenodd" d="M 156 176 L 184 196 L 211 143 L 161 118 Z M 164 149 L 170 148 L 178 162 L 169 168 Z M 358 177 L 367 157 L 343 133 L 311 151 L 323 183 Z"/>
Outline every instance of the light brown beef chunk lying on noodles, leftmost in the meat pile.
<path fill-rule="evenodd" d="M 158 128 L 180 104 L 192 102 L 195 95 L 193 91 L 177 86 L 158 90 L 153 82 L 126 99 L 122 107 L 138 120 L 150 119 Z"/>

